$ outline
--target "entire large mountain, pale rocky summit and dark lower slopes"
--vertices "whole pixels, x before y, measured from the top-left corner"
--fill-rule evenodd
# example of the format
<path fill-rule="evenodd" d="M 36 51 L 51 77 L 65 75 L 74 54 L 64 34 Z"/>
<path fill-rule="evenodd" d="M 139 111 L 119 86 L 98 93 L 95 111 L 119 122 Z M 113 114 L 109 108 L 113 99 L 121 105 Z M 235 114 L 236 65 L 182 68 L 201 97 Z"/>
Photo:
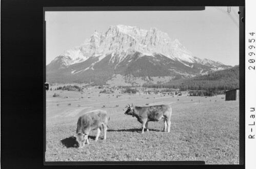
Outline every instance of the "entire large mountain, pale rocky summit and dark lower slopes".
<path fill-rule="evenodd" d="M 194 76 L 231 68 L 192 55 L 178 39 L 156 28 L 117 25 L 95 31 L 90 39 L 57 56 L 46 66 L 49 82 L 106 81 L 113 74 Z"/>

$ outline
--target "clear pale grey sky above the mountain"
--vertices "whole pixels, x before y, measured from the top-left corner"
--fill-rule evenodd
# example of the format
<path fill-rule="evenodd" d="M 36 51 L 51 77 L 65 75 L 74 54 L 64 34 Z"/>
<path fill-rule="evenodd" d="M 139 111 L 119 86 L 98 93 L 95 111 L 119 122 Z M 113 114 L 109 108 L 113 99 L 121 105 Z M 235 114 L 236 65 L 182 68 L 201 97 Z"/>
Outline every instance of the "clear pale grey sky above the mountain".
<path fill-rule="evenodd" d="M 46 64 L 81 45 L 95 30 L 106 32 L 110 25 L 128 25 L 155 27 L 172 40 L 179 39 L 193 56 L 238 65 L 239 27 L 225 10 L 206 7 L 204 11 L 46 12 Z M 231 10 L 238 23 L 239 8 Z"/>

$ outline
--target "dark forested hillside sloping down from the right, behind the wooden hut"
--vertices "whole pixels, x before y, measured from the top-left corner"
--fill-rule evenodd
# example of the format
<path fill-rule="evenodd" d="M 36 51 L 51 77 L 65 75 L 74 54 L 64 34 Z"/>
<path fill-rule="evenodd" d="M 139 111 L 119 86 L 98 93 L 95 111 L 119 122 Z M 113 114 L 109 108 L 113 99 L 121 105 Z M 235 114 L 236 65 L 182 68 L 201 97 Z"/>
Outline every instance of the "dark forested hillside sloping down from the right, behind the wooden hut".
<path fill-rule="evenodd" d="M 186 90 L 223 91 L 239 88 L 239 66 L 207 75 L 182 78 L 162 84 L 144 84 L 146 88 L 173 88 Z"/>

